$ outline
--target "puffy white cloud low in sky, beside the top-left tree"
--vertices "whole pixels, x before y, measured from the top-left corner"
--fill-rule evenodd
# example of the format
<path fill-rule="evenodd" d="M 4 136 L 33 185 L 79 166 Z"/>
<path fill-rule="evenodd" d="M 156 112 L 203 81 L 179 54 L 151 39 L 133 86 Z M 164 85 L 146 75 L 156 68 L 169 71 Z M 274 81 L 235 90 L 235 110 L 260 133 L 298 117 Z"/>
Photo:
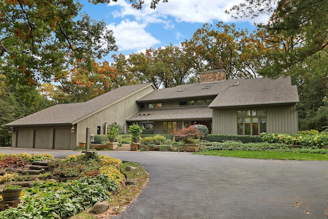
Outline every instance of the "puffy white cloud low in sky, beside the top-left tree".
<path fill-rule="evenodd" d="M 124 20 L 118 25 L 109 24 L 107 28 L 114 32 L 113 35 L 118 46 L 118 51 L 139 50 L 160 43 L 158 39 L 145 31 L 146 24 Z"/>

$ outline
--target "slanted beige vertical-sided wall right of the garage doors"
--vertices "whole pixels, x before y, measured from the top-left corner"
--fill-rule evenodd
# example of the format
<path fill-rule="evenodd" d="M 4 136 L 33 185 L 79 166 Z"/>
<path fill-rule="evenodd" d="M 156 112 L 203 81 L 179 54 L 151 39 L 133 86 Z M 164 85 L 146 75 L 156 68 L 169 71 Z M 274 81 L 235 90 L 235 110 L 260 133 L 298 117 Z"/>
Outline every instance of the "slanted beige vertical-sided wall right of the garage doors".
<path fill-rule="evenodd" d="M 105 123 L 112 124 L 116 122 L 118 125 L 125 125 L 125 131 L 128 133 L 129 127 L 127 126 L 126 119 L 140 110 L 138 104 L 136 103 L 136 99 L 150 93 L 153 90 L 153 87 L 147 87 L 78 122 L 76 128 L 76 147 L 79 142 L 86 141 L 87 127 L 90 127 L 90 133 L 96 135 L 97 126 L 100 126 L 100 133 L 105 134 Z"/>

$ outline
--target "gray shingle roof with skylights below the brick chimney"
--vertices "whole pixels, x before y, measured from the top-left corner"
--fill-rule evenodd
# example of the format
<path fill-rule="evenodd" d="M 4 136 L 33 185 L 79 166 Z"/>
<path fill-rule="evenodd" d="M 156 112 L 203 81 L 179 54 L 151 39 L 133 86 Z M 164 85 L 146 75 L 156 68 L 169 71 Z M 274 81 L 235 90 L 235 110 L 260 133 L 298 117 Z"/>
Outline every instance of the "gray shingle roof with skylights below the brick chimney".
<path fill-rule="evenodd" d="M 231 86 L 238 83 L 237 86 Z M 203 89 L 204 86 L 210 86 Z M 178 92 L 179 89 L 186 88 Z M 219 82 L 179 85 L 174 88 L 155 90 L 137 102 L 165 101 L 178 98 L 216 96 L 210 107 L 232 107 L 262 104 L 299 102 L 297 87 L 291 85 L 290 77 L 238 78 Z"/>

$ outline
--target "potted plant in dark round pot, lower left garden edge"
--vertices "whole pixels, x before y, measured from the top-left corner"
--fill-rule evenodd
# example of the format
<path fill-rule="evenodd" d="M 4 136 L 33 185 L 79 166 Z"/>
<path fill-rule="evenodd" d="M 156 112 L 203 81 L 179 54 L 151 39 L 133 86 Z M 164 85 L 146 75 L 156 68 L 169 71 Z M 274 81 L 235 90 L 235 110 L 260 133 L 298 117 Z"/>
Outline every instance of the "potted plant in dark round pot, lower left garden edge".
<path fill-rule="evenodd" d="M 22 192 L 22 186 L 11 184 L 11 181 L 16 182 L 19 175 L 18 173 L 5 173 L 0 177 L 0 182 L 4 183 L 1 194 L 4 202 L 15 201 L 19 199 L 20 192 Z"/>

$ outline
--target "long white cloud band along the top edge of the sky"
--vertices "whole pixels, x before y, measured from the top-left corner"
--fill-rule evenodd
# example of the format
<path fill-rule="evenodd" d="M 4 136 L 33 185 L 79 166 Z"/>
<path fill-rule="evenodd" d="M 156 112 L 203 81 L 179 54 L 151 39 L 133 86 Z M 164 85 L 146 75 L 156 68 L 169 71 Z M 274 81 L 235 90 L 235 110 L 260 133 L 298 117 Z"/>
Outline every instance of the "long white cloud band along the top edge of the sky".
<path fill-rule="evenodd" d="M 229 10 L 233 5 L 237 5 L 244 0 L 169 0 L 168 3 L 160 3 L 155 10 L 149 8 L 149 0 L 145 1 L 145 5 L 141 10 L 135 10 L 131 5 L 125 1 L 118 1 L 111 5 L 118 5 L 121 7 L 120 11 L 115 11 L 113 15 L 115 17 L 134 16 L 136 21 L 142 21 L 145 23 L 162 23 L 167 22 L 168 17 L 173 17 L 176 22 L 187 23 L 216 23 L 222 22 L 249 22 L 266 23 L 269 15 L 262 14 L 256 19 L 249 17 L 235 19 L 229 14 L 224 13 L 225 10 Z"/>

